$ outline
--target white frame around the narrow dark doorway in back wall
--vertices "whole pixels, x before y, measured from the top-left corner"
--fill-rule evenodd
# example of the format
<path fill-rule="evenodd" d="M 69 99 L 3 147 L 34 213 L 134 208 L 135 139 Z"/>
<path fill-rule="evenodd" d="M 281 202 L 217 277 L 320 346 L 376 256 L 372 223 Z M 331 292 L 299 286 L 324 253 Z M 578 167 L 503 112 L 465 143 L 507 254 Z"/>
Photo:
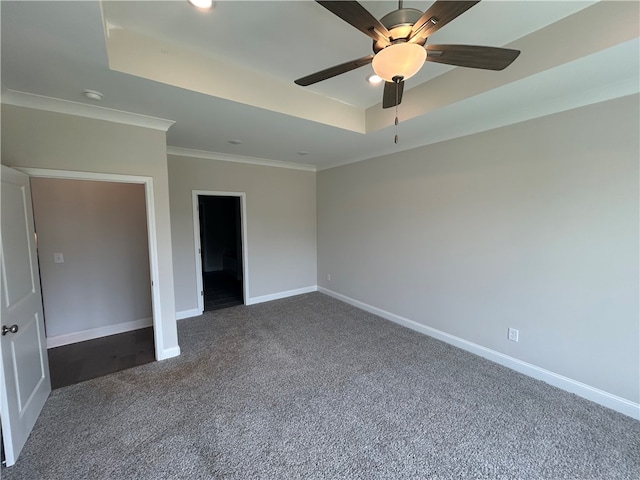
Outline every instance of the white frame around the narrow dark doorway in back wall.
<path fill-rule="evenodd" d="M 245 192 L 220 192 L 210 190 L 192 190 L 193 199 L 193 239 L 196 255 L 196 289 L 198 296 L 198 310 L 204 312 L 204 286 L 202 284 L 202 256 L 200 255 L 200 215 L 198 214 L 198 197 L 239 197 L 240 198 L 240 225 L 242 237 L 242 294 L 243 303 L 247 305 L 249 299 L 249 253 L 247 251 L 247 195 Z"/>

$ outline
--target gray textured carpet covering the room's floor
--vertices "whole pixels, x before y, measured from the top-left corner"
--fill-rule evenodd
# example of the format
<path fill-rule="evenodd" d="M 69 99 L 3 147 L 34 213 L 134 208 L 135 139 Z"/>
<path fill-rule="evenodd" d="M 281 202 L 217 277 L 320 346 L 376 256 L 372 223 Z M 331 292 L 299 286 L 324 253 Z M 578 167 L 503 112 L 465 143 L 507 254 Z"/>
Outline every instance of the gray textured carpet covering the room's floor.
<path fill-rule="evenodd" d="M 640 422 L 320 293 L 55 390 L 16 479 L 638 479 Z"/>

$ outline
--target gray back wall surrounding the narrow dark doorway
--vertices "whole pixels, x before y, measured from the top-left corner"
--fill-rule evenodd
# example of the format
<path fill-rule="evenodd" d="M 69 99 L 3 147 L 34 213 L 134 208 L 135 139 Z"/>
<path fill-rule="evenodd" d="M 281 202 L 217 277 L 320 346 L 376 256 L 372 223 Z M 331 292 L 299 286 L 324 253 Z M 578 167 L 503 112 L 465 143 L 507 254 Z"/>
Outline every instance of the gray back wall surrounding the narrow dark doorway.
<path fill-rule="evenodd" d="M 315 172 L 169 155 L 178 312 L 198 300 L 192 190 L 246 193 L 247 300 L 316 285 Z"/>

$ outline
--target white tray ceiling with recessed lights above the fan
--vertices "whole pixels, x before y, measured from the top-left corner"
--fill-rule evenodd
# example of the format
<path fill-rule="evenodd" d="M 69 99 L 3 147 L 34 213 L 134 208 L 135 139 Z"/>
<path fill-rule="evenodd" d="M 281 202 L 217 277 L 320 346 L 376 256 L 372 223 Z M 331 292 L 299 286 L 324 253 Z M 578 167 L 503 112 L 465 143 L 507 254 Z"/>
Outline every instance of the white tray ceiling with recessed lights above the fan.
<path fill-rule="evenodd" d="M 361 3 L 378 18 L 397 7 Z M 293 83 L 371 53 L 367 36 L 313 1 L 217 1 L 206 13 L 183 0 L 2 1 L 2 101 L 95 105 L 82 91 L 97 90 L 100 107 L 175 121 L 170 147 L 325 168 L 637 92 L 637 19 L 622 25 L 620 5 L 480 2 L 429 43 L 522 54 L 503 72 L 426 63 L 406 82 L 397 145 L 395 112 L 382 110 L 382 87 L 365 81 L 370 66 L 311 87 Z"/>

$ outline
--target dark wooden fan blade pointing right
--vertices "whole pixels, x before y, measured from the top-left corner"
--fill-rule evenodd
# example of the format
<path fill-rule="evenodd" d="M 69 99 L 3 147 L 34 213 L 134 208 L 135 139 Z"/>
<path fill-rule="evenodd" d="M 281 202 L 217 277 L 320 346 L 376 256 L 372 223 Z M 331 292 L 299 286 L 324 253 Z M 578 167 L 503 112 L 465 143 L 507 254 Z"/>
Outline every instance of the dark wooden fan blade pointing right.
<path fill-rule="evenodd" d="M 428 62 L 486 70 L 503 70 L 520 55 L 520 50 L 477 45 L 427 45 L 425 48 Z"/>

